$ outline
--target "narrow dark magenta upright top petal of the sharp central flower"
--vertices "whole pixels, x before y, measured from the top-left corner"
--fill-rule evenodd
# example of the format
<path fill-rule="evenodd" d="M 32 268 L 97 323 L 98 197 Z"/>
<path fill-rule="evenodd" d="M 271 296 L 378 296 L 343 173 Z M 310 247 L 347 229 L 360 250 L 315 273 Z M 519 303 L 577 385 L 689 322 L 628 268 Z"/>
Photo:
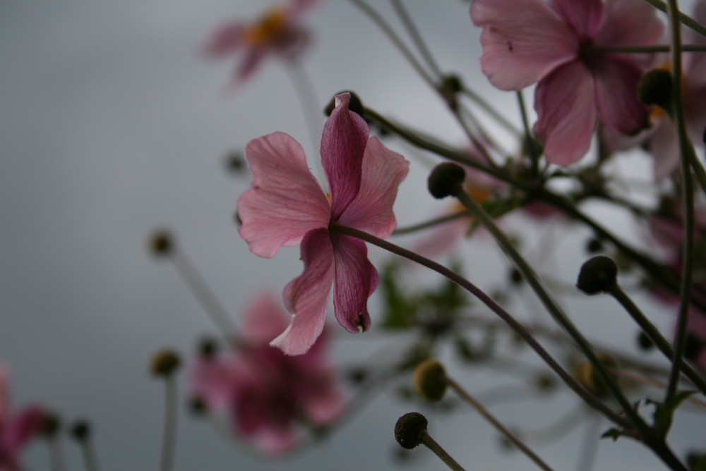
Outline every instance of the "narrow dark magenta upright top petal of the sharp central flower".
<path fill-rule="evenodd" d="M 363 154 L 370 130 L 363 118 L 348 110 L 350 94 L 336 95 L 336 107 L 321 135 L 321 163 L 331 193 L 331 215 L 335 221 L 358 195 Z"/>

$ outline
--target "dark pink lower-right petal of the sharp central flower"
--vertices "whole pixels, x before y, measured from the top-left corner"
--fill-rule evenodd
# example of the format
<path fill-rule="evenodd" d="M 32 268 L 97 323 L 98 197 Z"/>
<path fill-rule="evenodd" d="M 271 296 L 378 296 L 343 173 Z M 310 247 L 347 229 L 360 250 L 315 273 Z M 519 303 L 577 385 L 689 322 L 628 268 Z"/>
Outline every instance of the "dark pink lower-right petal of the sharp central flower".
<path fill-rule="evenodd" d="M 333 254 L 336 279 L 333 307 L 338 323 L 357 334 L 370 327 L 368 298 L 378 287 L 378 271 L 368 260 L 368 248 L 362 240 L 335 234 Z"/>

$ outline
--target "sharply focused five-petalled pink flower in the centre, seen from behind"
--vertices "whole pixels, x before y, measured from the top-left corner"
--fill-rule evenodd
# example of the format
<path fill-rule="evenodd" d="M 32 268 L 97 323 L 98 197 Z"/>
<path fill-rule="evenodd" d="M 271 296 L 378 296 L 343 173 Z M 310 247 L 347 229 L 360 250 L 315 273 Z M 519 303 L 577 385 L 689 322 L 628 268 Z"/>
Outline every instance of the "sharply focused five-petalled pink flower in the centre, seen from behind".
<path fill-rule="evenodd" d="M 334 310 L 349 332 L 370 326 L 367 300 L 378 286 L 364 242 L 335 232 L 349 226 L 386 238 L 396 226 L 393 203 L 409 163 L 369 137 L 363 118 L 349 111 L 350 94 L 336 107 L 321 136 L 321 162 L 330 197 L 309 171 L 299 142 L 285 133 L 251 140 L 245 157 L 251 188 L 238 200 L 240 236 L 261 257 L 301 245 L 304 272 L 284 292 L 292 322 L 272 341 L 288 355 L 309 350 L 321 330 L 334 286 Z"/>

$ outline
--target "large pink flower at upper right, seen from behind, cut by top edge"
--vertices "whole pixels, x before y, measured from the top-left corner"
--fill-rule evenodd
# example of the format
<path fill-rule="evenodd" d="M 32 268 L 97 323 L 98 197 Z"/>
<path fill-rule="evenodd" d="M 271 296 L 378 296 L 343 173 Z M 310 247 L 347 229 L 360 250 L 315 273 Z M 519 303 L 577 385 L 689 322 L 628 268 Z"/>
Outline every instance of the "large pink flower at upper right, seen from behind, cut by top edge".
<path fill-rule="evenodd" d="M 471 18 L 483 28 L 481 67 L 501 90 L 538 82 L 534 133 L 546 159 L 571 164 L 587 152 L 597 117 L 632 135 L 645 127 L 635 90 L 642 67 L 625 54 L 593 46 L 642 46 L 662 32 L 641 0 L 475 0 Z"/>

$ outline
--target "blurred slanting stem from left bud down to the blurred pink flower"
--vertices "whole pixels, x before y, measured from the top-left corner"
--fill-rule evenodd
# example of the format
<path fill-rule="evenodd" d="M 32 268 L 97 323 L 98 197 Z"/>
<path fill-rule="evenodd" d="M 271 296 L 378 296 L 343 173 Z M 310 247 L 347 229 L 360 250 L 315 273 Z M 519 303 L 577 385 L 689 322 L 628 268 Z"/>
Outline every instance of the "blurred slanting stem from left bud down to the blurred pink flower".
<path fill-rule="evenodd" d="M 191 259 L 186 255 L 186 252 L 178 247 L 177 250 L 174 250 L 174 255 L 171 259 L 174 261 L 174 267 L 176 267 L 179 277 L 189 288 L 191 294 L 201 303 L 203 310 L 221 332 L 226 343 L 229 345 L 237 343 L 236 330 L 225 307 L 205 283 L 201 274 L 191 263 Z"/>

